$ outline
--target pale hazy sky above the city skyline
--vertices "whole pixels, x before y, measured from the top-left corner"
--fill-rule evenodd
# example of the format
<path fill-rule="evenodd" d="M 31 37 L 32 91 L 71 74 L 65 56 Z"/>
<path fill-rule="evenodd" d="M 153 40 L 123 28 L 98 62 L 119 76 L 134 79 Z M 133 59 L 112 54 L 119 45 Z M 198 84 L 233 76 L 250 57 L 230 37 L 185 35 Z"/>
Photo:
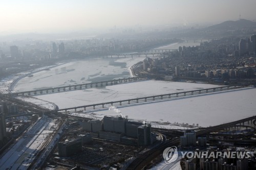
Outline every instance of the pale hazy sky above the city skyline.
<path fill-rule="evenodd" d="M 256 0 L 10 0 L 0 33 L 81 31 L 256 19 Z"/>

